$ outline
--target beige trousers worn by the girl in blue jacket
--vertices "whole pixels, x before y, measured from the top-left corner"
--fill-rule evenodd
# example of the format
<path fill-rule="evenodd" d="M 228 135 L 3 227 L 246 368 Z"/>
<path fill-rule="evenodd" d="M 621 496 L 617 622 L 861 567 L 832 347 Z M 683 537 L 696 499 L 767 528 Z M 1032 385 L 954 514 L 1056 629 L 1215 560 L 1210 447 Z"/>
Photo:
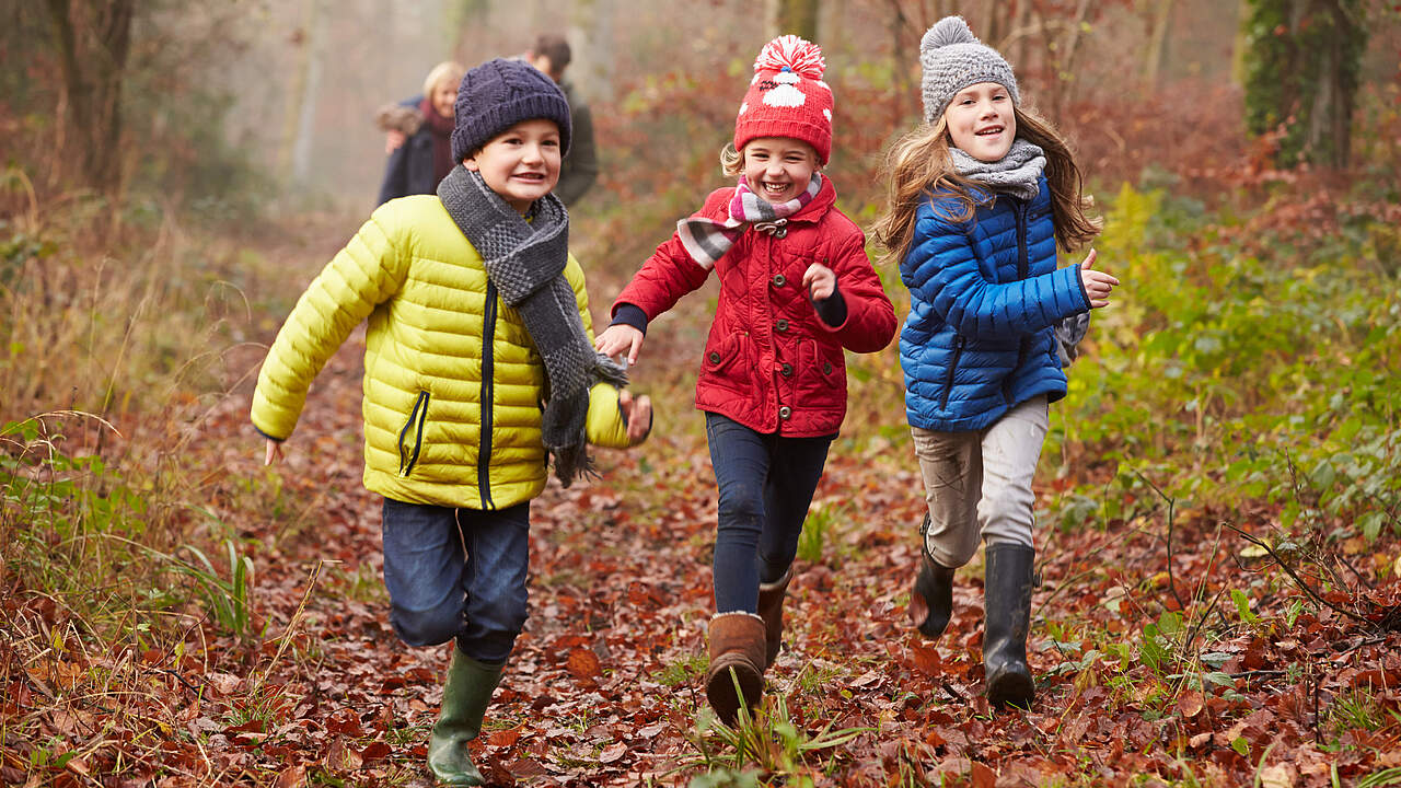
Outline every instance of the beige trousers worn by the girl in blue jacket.
<path fill-rule="evenodd" d="M 929 531 L 925 550 L 943 566 L 967 564 L 988 544 L 1031 544 L 1031 480 L 1051 423 L 1045 397 L 1034 397 L 975 432 L 912 426 L 925 477 Z"/>

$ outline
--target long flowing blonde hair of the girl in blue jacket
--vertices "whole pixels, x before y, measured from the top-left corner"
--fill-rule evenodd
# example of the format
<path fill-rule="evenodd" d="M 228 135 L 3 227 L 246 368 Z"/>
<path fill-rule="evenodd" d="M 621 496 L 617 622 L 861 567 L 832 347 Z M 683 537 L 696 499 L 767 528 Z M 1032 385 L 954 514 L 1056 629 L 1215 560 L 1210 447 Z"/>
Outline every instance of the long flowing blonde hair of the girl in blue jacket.
<path fill-rule="evenodd" d="M 1084 196 L 1084 179 L 1070 147 L 1049 121 L 1020 107 L 1013 108 L 1013 114 L 1017 119 L 1017 136 L 1045 151 L 1056 243 L 1063 250 L 1077 250 L 1100 234 L 1103 222 L 1086 213 L 1090 201 Z M 972 219 L 976 186 L 954 170 L 948 144 L 948 123 L 939 116 L 902 136 L 885 154 L 885 171 L 890 174 L 888 205 L 871 234 L 885 247 L 887 259 L 905 259 L 915 230 L 915 213 L 920 205 L 932 205 L 934 193 L 941 199 L 951 198 L 957 206 L 955 210 L 941 213 L 940 219 Z"/>

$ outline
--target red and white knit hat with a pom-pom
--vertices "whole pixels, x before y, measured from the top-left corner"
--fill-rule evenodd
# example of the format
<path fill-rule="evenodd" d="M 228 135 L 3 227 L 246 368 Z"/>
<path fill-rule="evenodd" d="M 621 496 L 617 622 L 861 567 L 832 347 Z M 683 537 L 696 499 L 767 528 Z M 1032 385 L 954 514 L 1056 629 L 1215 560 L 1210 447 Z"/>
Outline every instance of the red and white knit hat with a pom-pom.
<path fill-rule="evenodd" d="M 754 60 L 754 80 L 734 119 L 734 149 L 755 137 L 793 137 L 832 153 L 832 88 L 822 81 L 827 60 L 815 43 L 780 35 Z"/>

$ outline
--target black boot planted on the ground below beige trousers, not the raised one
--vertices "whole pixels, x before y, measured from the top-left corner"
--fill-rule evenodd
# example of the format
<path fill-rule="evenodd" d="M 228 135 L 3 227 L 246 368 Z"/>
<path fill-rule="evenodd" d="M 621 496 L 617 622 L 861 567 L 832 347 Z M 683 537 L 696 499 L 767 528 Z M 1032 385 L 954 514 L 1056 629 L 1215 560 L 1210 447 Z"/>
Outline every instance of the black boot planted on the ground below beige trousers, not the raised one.
<path fill-rule="evenodd" d="M 1031 708 L 1035 694 L 1031 669 L 1027 667 L 1031 568 L 1035 557 L 1035 550 L 1020 544 L 988 545 L 982 663 L 988 673 L 988 702 L 996 708 Z"/>

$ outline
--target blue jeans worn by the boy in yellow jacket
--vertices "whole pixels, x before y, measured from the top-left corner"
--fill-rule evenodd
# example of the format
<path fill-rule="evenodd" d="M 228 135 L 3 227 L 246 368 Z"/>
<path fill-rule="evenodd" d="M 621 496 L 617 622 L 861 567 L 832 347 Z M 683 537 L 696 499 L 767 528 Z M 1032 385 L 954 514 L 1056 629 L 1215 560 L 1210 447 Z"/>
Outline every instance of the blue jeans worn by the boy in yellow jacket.
<path fill-rule="evenodd" d="M 500 665 L 525 625 L 530 503 L 496 512 L 384 499 L 389 623 L 410 646 L 457 638 Z"/>

